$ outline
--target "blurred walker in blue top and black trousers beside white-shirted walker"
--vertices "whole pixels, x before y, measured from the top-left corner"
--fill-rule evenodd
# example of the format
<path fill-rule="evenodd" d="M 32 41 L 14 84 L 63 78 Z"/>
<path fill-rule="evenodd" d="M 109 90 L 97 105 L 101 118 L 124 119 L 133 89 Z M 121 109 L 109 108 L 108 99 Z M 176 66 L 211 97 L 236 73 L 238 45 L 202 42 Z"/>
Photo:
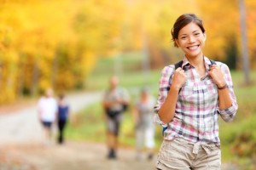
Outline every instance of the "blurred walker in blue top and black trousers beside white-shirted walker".
<path fill-rule="evenodd" d="M 59 95 L 58 101 L 58 112 L 57 112 L 57 120 L 58 120 L 58 129 L 59 129 L 59 136 L 58 136 L 58 143 L 64 143 L 64 129 L 67 125 L 68 121 L 68 112 L 69 106 L 65 100 L 64 94 Z"/>

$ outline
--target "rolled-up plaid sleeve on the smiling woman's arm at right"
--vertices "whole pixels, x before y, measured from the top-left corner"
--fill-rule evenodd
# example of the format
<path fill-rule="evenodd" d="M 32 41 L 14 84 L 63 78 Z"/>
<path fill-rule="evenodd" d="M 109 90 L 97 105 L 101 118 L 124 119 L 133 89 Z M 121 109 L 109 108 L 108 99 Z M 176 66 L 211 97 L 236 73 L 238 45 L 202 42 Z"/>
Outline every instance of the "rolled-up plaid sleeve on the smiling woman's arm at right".
<path fill-rule="evenodd" d="M 232 100 L 232 105 L 225 110 L 220 110 L 218 108 L 218 113 L 223 118 L 224 122 L 230 122 L 236 116 L 236 111 L 238 109 L 238 105 L 236 103 L 236 95 L 234 93 L 234 87 L 233 87 L 233 82 L 232 82 L 232 78 L 231 78 L 231 74 L 230 74 L 230 69 L 229 69 L 228 65 L 225 65 L 225 64 L 221 65 L 220 68 L 224 72 L 224 77 L 225 77 L 225 80 L 227 83 L 227 88 L 229 89 L 230 97 Z"/>

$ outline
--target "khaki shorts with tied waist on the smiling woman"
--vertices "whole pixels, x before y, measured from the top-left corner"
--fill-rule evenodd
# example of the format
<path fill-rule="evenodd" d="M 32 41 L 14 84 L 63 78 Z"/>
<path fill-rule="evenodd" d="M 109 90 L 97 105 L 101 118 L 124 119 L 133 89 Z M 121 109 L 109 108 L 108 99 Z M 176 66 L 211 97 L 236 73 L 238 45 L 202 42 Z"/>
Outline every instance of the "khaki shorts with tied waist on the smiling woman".
<path fill-rule="evenodd" d="M 216 144 L 189 144 L 185 139 L 164 140 L 156 168 L 160 170 L 219 170 L 221 151 Z"/>

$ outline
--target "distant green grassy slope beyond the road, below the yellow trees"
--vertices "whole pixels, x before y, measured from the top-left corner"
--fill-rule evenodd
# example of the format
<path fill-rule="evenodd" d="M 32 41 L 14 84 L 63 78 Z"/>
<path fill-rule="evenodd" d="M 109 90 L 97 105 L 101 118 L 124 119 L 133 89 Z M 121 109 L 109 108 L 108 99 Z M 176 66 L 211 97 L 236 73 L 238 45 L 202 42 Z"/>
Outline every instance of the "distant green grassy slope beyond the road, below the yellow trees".
<path fill-rule="evenodd" d="M 120 86 L 126 88 L 145 85 L 157 88 L 158 84 L 155 82 L 158 82 L 160 78 L 160 70 L 151 70 L 145 75 L 141 53 L 126 53 L 119 55 L 119 58 L 121 59 L 118 61 L 119 66 L 122 65 L 119 72 L 115 71 L 116 58 L 98 59 L 96 67 L 85 81 L 86 88 L 90 90 L 106 89 L 108 88 L 108 79 L 113 75 L 118 75 Z"/>

